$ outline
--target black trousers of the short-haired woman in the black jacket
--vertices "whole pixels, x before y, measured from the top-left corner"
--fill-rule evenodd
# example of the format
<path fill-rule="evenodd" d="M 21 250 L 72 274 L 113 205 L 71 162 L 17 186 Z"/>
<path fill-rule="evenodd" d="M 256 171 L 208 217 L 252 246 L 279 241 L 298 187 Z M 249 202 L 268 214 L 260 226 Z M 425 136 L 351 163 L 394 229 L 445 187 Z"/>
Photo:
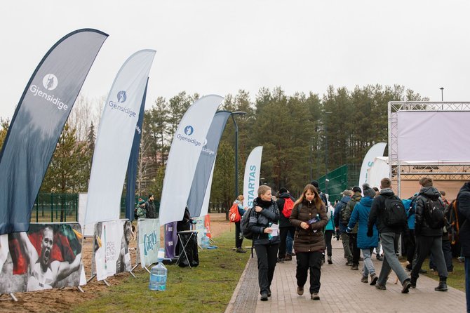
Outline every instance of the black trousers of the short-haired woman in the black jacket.
<path fill-rule="evenodd" d="M 260 294 L 267 293 L 271 287 L 276 268 L 277 252 L 279 244 L 255 244 L 256 257 L 258 259 L 258 284 Z"/>

